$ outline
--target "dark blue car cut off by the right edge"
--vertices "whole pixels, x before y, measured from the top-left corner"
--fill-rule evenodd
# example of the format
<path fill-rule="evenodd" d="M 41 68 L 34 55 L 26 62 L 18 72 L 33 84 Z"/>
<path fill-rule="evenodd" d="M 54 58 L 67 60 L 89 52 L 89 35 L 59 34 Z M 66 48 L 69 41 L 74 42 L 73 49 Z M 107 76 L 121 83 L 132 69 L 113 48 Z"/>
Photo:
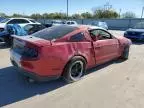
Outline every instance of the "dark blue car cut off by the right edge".
<path fill-rule="evenodd" d="M 144 22 L 137 23 L 133 28 L 126 30 L 124 37 L 131 40 L 144 40 Z"/>

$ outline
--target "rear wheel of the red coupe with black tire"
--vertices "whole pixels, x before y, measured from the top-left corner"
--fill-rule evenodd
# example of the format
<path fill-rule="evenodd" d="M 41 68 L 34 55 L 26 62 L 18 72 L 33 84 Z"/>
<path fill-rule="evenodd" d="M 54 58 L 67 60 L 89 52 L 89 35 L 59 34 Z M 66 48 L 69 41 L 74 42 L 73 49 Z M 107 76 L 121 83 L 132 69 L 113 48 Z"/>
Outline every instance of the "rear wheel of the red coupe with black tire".
<path fill-rule="evenodd" d="M 77 68 L 76 68 L 77 67 Z M 67 83 L 73 83 L 82 78 L 86 71 L 86 61 L 83 57 L 75 56 L 66 65 L 63 78 Z"/>

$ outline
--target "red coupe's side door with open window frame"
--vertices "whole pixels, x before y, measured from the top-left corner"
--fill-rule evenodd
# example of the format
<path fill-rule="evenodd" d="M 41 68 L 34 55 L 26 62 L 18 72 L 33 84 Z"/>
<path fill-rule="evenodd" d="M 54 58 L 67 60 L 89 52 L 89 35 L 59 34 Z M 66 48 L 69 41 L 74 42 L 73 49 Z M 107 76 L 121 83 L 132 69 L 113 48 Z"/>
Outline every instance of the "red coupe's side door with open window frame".
<path fill-rule="evenodd" d="M 95 29 L 90 31 L 90 35 L 93 39 L 96 64 L 105 63 L 119 56 L 119 42 L 109 32 Z"/>

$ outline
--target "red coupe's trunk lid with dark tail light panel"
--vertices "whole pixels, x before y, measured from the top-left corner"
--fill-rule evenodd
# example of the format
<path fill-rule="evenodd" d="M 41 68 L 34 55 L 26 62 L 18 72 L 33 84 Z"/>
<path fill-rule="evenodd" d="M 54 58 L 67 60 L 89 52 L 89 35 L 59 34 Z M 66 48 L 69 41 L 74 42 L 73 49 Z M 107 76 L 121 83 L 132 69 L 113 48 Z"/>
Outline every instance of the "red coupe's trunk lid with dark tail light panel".
<path fill-rule="evenodd" d="M 23 59 L 36 59 L 41 54 L 43 46 L 50 46 L 51 42 L 32 36 L 13 36 L 11 50 L 23 57 Z"/>

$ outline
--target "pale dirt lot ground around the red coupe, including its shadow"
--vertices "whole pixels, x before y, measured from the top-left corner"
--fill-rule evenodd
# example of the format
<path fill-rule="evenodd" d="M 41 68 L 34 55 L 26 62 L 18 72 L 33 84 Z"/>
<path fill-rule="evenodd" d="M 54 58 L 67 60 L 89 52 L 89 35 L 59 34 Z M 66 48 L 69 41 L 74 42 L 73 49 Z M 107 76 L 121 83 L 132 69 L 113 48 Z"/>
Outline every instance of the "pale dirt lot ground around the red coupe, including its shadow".
<path fill-rule="evenodd" d="M 114 31 L 116 34 L 122 32 Z M 112 61 L 88 71 L 81 81 L 30 84 L 0 49 L 0 106 L 8 108 L 144 108 L 144 43 L 131 46 L 125 62 Z"/>

